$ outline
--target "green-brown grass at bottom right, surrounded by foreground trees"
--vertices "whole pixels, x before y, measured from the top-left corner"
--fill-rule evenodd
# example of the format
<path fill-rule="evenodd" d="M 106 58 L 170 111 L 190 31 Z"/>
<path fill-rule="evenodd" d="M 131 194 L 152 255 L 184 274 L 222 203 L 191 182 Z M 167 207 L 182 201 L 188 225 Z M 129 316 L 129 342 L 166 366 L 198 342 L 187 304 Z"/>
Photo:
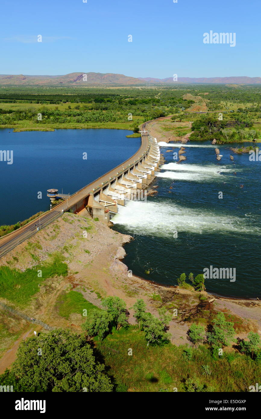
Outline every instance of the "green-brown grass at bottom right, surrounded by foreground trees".
<path fill-rule="evenodd" d="M 176 387 L 178 392 L 184 392 L 188 390 L 185 382 L 191 378 L 199 380 L 204 391 L 242 392 L 244 383 L 249 386 L 260 382 L 261 365 L 245 355 L 225 351 L 222 358 L 214 360 L 207 346 L 202 345 L 193 348 L 191 360 L 186 361 L 182 356 L 185 345 L 169 343 L 147 348 L 145 334 L 137 326 L 118 332 L 114 329 L 102 342 L 95 341 L 110 367 L 109 374 L 115 378 L 116 391 L 158 392 L 160 388 L 173 391 Z M 209 377 L 202 375 L 202 365 L 209 365 Z"/>

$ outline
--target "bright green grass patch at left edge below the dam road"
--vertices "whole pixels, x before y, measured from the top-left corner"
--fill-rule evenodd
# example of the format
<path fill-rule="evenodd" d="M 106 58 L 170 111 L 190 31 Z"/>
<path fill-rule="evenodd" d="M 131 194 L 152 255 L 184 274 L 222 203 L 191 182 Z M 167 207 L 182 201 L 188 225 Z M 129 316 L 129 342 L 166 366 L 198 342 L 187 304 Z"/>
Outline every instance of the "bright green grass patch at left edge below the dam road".
<path fill-rule="evenodd" d="M 41 277 L 38 277 L 39 270 Z M 0 297 L 23 308 L 39 291 L 39 284 L 56 275 L 67 275 L 67 264 L 63 263 L 62 257 L 58 255 L 54 256 L 52 261 L 26 269 L 24 272 L 0 266 Z"/>

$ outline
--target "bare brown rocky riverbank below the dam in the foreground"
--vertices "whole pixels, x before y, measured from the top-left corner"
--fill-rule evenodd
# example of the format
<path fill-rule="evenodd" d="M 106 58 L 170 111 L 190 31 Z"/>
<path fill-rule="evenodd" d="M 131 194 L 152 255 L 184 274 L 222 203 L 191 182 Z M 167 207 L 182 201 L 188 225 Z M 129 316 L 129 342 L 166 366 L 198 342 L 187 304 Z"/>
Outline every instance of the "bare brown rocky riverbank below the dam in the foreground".
<path fill-rule="evenodd" d="M 84 230 L 87 237 L 83 237 Z M 177 308 L 178 316 L 171 320 L 169 328 L 171 342 L 176 345 L 190 344 L 187 332 L 191 323 L 206 326 L 209 316 L 217 311 L 223 311 L 227 319 L 234 321 L 237 337 L 244 339 L 251 330 L 261 334 L 261 303 L 258 301 L 213 297 L 207 292 L 165 287 L 129 276 L 128 267 L 122 262 L 125 254 L 122 246 L 130 240 L 130 235 L 90 219 L 85 209 L 77 215 L 65 213 L 1 258 L 0 266 L 24 272 L 59 255 L 68 266 L 68 275 L 43 282 L 39 278 L 39 288 L 22 309 L 1 295 L 0 300 L 52 327 L 67 328 L 69 322 L 69 328 L 75 332 L 81 330 L 85 305 L 86 308 L 88 304 L 101 307 L 102 299 L 113 295 L 126 302 L 130 324 L 135 323 L 132 307 L 139 298 L 155 316 L 158 316 L 158 308 L 165 307 L 169 313 Z M 23 285 L 18 292 L 24 292 Z M 75 299 L 77 295 L 80 303 Z M 66 304 L 66 310 L 62 304 Z M 31 324 L 10 316 L 2 308 L 0 313 L 0 372 L 3 372 L 15 359 L 17 342 L 33 336 L 34 330 L 42 329 L 36 325 L 32 328 Z"/>

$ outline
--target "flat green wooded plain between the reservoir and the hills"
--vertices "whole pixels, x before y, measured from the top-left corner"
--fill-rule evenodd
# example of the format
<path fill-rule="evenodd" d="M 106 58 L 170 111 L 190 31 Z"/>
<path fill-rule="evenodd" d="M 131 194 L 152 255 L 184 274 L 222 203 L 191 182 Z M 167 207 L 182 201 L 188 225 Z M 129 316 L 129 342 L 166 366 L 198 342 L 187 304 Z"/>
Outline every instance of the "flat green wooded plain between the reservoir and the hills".
<path fill-rule="evenodd" d="M 253 141 L 260 139 L 260 93 L 261 87 L 256 85 L 2 86 L 0 127 L 16 132 L 114 128 L 135 133 L 142 122 L 173 115 L 173 123 L 193 122 L 191 140 Z M 173 135 L 188 132 L 173 124 Z"/>

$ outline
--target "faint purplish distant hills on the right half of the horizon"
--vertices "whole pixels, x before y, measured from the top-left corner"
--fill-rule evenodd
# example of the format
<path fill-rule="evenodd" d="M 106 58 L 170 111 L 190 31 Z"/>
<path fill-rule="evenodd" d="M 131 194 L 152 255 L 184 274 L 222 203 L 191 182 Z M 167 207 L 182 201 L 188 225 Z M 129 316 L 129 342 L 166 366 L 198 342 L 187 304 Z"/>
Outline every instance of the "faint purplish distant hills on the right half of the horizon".
<path fill-rule="evenodd" d="M 260 84 L 261 77 L 201 77 L 201 78 L 191 78 L 191 77 L 178 77 L 178 81 L 173 81 L 172 77 L 168 77 L 165 79 L 157 79 L 157 78 L 139 78 L 141 81 L 145 83 L 171 83 L 171 84 L 178 84 L 178 83 L 218 83 L 218 84 Z"/>

